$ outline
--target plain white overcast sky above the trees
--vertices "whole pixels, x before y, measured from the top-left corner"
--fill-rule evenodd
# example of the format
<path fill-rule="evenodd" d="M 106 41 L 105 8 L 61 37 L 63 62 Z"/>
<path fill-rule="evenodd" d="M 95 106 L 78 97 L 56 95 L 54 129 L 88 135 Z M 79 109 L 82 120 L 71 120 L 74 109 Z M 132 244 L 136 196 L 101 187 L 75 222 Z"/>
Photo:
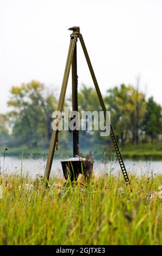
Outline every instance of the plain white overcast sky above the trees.
<path fill-rule="evenodd" d="M 0 0 L 0 113 L 22 82 L 59 94 L 72 26 L 80 26 L 103 94 L 140 74 L 141 90 L 162 105 L 161 0 Z M 79 86 L 93 86 L 79 44 L 78 76 Z"/>

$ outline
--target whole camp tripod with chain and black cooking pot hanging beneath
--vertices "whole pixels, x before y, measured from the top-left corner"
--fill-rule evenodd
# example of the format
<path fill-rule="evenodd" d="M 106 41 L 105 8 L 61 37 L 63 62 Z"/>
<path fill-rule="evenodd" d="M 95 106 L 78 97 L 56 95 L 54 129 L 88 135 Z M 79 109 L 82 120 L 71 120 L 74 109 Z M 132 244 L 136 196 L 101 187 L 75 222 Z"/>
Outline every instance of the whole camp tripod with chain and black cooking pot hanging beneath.
<path fill-rule="evenodd" d="M 92 68 L 92 64 L 89 58 L 88 51 L 86 50 L 86 46 L 83 40 L 82 34 L 80 34 L 80 28 L 79 27 L 71 27 L 68 30 L 72 31 L 72 34 L 70 35 L 70 46 L 68 49 L 67 54 L 67 60 L 66 60 L 66 66 L 65 66 L 65 72 L 63 77 L 63 83 L 61 87 L 61 93 L 59 97 L 58 102 L 58 108 L 57 110 L 62 112 L 64 101 L 65 101 L 65 94 L 66 94 L 66 88 L 67 88 L 67 82 L 68 77 L 70 74 L 70 69 L 72 68 L 72 110 L 78 111 L 78 76 L 77 76 L 77 39 L 79 39 L 80 44 L 82 45 L 84 56 L 86 59 L 86 62 L 88 64 L 90 74 L 92 77 L 92 80 L 95 85 L 95 89 L 98 95 L 99 102 L 101 104 L 104 118 L 107 118 L 107 109 L 105 108 L 104 101 L 96 80 L 94 69 Z M 63 173 L 64 177 L 67 180 L 70 178 L 71 181 L 77 180 L 79 173 L 82 173 L 86 179 L 90 179 L 90 176 L 92 174 L 92 168 L 94 161 L 90 159 L 82 159 L 79 157 L 79 131 L 73 130 L 71 131 L 73 133 L 73 157 L 76 157 L 75 159 L 69 159 L 66 161 L 61 161 L 62 167 L 63 167 Z M 124 177 L 124 180 L 126 182 L 129 181 L 128 174 L 126 167 L 124 166 L 124 162 L 122 159 L 122 155 L 119 149 L 119 145 L 117 143 L 115 133 L 113 130 L 113 126 L 110 123 L 110 137 L 114 145 L 114 149 L 116 152 L 117 159 L 119 161 L 122 174 Z M 54 156 L 55 147 L 58 144 L 58 130 L 53 130 L 52 132 L 52 138 L 49 145 L 48 150 L 48 156 L 47 156 L 47 163 L 46 163 L 46 169 L 45 169 L 45 181 L 47 184 L 47 181 L 49 180 L 49 175 L 51 173 L 51 167 L 52 167 L 52 161 Z"/>

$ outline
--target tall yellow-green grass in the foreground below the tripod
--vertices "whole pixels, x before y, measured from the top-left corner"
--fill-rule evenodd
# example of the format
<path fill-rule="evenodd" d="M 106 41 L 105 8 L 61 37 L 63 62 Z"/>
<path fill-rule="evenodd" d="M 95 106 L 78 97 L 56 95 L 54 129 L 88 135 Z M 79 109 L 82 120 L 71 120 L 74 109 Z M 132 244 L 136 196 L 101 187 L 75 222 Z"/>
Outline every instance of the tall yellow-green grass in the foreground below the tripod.
<path fill-rule="evenodd" d="M 1 177 L 2 178 L 2 177 Z M 157 245 L 162 243 L 162 176 L 93 178 L 65 187 L 52 178 L 3 178 L 1 245 Z M 158 190 L 159 189 L 159 190 Z"/>

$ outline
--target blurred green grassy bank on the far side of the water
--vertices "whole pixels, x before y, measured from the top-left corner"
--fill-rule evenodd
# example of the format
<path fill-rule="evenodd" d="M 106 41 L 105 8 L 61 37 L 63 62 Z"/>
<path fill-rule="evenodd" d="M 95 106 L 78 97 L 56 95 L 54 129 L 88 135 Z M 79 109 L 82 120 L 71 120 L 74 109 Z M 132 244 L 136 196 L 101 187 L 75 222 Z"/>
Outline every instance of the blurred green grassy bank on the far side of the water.
<path fill-rule="evenodd" d="M 115 159 L 116 154 L 114 152 L 112 145 L 107 145 L 107 147 L 101 145 L 91 145 L 90 148 L 80 148 L 80 151 L 85 154 L 89 153 L 89 151 L 94 152 L 94 157 L 96 160 L 103 159 L 105 156 L 106 159 Z M 1 149 L 1 153 L 3 154 L 4 149 Z M 8 148 L 8 156 L 16 156 L 20 157 L 23 153 L 24 157 L 47 157 L 48 149 L 43 148 L 28 148 L 28 147 L 18 147 L 18 148 Z M 162 143 L 147 143 L 147 144 L 139 144 L 132 145 L 126 144 L 121 148 L 121 153 L 124 159 L 132 159 L 132 160 L 162 160 Z M 63 145 L 59 145 L 59 150 L 55 150 L 55 157 L 63 158 L 63 157 L 71 157 L 72 149 L 65 149 Z"/>

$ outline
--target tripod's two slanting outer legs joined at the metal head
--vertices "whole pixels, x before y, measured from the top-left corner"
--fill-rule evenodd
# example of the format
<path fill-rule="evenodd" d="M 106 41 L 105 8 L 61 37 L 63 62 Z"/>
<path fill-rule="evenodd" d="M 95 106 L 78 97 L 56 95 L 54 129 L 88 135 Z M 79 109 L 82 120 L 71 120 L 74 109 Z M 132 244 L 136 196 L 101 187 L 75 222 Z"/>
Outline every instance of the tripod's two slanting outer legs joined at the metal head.
<path fill-rule="evenodd" d="M 82 36 L 82 34 L 80 34 L 80 28 L 79 27 L 72 27 L 69 30 L 72 31 L 72 34 L 70 35 L 71 36 L 70 46 L 69 46 L 69 49 L 68 49 L 65 72 L 64 72 L 64 78 L 63 78 L 63 83 L 62 83 L 62 87 L 61 87 L 61 93 L 60 93 L 60 97 L 59 97 L 58 109 L 57 110 L 60 111 L 60 112 L 63 111 L 66 88 L 67 88 L 67 82 L 68 82 L 68 77 L 69 77 L 69 74 L 70 74 L 71 65 L 72 65 L 72 88 L 73 88 L 72 89 L 72 96 L 73 96 L 73 99 L 74 99 L 74 79 L 75 79 L 74 76 L 76 75 L 76 73 L 74 71 L 74 68 L 73 68 L 74 67 L 73 63 L 76 62 L 74 50 L 75 50 L 75 47 L 76 47 L 76 44 L 77 44 L 77 39 L 79 38 L 80 43 L 81 43 L 82 48 L 83 48 L 85 58 L 86 58 L 86 62 L 89 66 L 89 70 L 90 70 L 90 73 L 91 73 L 92 80 L 93 80 L 95 88 L 96 88 L 96 92 L 97 92 L 97 95 L 98 95 L 99 102 L 100 102 L 102 110 L 104 112 L 104 118 L 105 118 L 105 120 L 107 120 L 106 119 L 107 118 L 107 110 L 105 108 L 101 92 L 99 90 L 99 86 L 98 86 L 98 83 L 97 83 L 97 80 L 96 80 L 94 70 L 92 68 L 92 64 L 91 64 L 91 61 L 90 61 L 90 58 L 89 58 L 88 51 L 86 50 L 86 46 L 84 44 L 83 36 Z M 44 175 L 44 179 L 45 179 L 46 184 L 47 184 L 47 181 L 49 180 L 49 175 L 51 173 L 52 161 L 53 161 L 54 151 L 55 151 L 55 147 L 56 147 L 56 143 L 57 143 L 57 136 L 58 136 L 58 130 L 56 130 L 56 131 L 53 130 L 51 142 L 50 142 L 50 145 L 49 145 L 48 157 L 47 157 L 47 163 L 46 163 L 46 169 L 45 169 L 45 175 Z M 117 143 L 115 133 L 114 133 L 114 130 L 113 130 L 113 126 L 112 126 L 111 123 L 110 123 L 110 136 L 111 136 L 111 139 L 112 139 L 112 142 L 113 142 L 113 145 L 114 145 L 114 149 L 116 151 L 117 159 L 119 160 L 119 164 L 120 164 L 120 167 L 121 167 L 121 170 L 122 170 L 124 180 L 126 182 L 128 182 L 129 178 L 128 178 L 128 174 L 127 174 L 127 171 L 126 171 L 126 167 L 124 166 L 124 162 L 123 162 L 122 155 L 121 155 L 121 152 L 120 152 L 120 149 L 119 149 L 119 145 Z M 73 150 L 76 150 L 76 152 L 77 152 L 78 149 L 73 149 Z"/>

